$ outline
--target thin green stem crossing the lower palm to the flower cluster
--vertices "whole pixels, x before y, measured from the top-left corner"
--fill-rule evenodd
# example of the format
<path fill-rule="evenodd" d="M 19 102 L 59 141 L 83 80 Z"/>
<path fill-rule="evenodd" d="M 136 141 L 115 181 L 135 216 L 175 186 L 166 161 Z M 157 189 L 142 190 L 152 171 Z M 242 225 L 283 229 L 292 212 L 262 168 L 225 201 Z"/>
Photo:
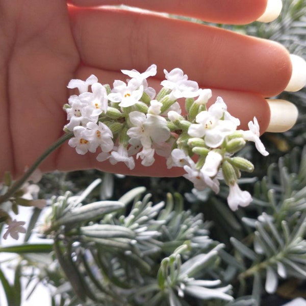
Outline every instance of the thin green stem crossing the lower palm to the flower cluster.
<path fill-rule="evenodd" d="M 34 170 L 40 165 L 40 163 L 47 158 L 53 151 L 55 151 L 58 147 L 60 147 L 64 142 L 70 139 L 73 136 L 73 132 L 64 134 L 61 138 L 59 138 L 55 143 L 50 145 L 43 154 L 33 163 L 33 165 L 24 173 L 24 175 L 16 181 L 9 190 L 2 196 L 0 196 L 0 203 L 8 200 L 21 186 L 27 182 L 30 175 L 34 172 Z"/>

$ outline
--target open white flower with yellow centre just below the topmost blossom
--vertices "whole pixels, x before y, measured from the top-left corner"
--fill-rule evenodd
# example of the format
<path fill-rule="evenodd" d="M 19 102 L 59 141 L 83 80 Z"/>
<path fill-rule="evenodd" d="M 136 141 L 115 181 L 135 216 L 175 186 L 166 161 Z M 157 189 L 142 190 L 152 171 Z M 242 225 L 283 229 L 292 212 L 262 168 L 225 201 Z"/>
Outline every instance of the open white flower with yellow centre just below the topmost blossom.
<path fill-rule="evenodd" d="M 114 88 L 108 95 L 108 99 L 112 102 L 119 103 L 120 107 L 129 107 L 137 103 L 142 94 L 143 86 L 138 86 L 135 79 L 130 80 L 127 84 L 120 80 L 114 82 Z"/>

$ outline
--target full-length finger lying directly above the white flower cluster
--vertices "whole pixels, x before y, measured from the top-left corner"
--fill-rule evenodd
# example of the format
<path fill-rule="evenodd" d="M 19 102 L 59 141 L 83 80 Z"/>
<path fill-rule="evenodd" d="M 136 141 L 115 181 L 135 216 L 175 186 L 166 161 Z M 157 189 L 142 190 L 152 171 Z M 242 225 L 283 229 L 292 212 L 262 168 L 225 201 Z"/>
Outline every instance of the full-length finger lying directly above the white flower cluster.
<path fill-rule="evenodd" d="M 292 66 L 273 41 L 148 13 L 109 8 L 69 10 L 82 62 L 90 67 L 144 71 L 152 63 L 179 67 L 201 87 L 274 96 Z M 158 72 L 158 78 L 163 75 Z"/>

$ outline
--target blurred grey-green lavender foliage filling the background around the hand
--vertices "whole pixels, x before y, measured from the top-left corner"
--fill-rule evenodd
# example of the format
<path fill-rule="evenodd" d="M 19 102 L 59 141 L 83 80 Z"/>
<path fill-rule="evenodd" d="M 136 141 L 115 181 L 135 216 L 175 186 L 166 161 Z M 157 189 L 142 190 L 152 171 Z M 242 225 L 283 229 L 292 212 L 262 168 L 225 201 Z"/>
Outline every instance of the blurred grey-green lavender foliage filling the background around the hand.
<path fill-rule="evenodd" d="M 278 41 L 306 59 L 305 13 L 306 0 L 285 0 L 267 24 L 205 24 Z M 225 185 L 215 195 L 182 177 L 45 174 L 40 197 L 50 212 L 39 235 L 51 240 L 28 242 L 37 235 L 34 209 L 24 243 L 0 248 L 18 254 L 13 283 L 0 264 L 8 304 L 20 304 L 21 276 L 32 291 L 47 286 L 54 306 L 282 305 L 305 297 L 306 90 L 277 98 L 297 106 L 297 123 L 262 136 L 268 157 L 253 145 L 240 152 L 255 166 L 239 182 L 254 200 L 237 212 L 227 207 Z"/>

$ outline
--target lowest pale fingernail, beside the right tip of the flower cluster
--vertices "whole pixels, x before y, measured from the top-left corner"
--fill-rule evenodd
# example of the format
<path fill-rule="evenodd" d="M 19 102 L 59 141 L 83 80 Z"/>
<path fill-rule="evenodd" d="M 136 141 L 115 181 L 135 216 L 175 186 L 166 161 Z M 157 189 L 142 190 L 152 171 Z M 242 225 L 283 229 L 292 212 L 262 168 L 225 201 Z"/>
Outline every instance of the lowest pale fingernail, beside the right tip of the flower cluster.
<path fill-rule="evenodd" d="M 290 130 L 297 120 L 296 106 L 281 99 L 267 99 L 267 102 L 271 115 L 266 132 L 282 133 Z"/>

